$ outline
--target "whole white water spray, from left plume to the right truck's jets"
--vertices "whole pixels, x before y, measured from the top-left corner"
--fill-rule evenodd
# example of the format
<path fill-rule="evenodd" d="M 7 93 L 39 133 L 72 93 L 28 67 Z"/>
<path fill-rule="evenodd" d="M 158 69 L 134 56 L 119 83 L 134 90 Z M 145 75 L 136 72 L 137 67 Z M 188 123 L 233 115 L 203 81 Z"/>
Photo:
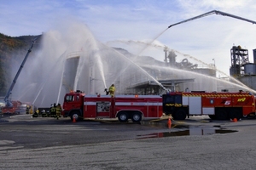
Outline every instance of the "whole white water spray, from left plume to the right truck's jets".
<path fill-rule="evenodd" d="M 211 79 L 200 74 L 173 70 L 166 67 L 164 62 L 160 62 L 159 66 L 152 58 L 143 59 L 125 49 L 110 48 L 98 42 L 87 26 L 77 22 L 60 25 L 45 32 L 42 38 L 42 48 L 32 51 L 13 92 L 22 102 L 34 103 L 38 107 L 62 103 L 64 95 L 70 90 L 81 90 L 85 94 L 103 94 L 104 89 L 112 83 L 115 84 L 116 94 L 129 94 L 131 91 L 127 89 L 132 85 L 148 80 L 153 80 L 162 87 L 158 80 L 163 77 L 206 78 L 180 85 L 181 90 L 187 85 L 191 90 L 209 86 L 206 89 L 208 91 L 217 90 L 220 86 L 227 87 L 226 84 L 215 86 L 215 82 L 222 82 L 216 77 Z M 161 45 L 153 46 L 161 50 L 164 48 Z M 137 45 L 137 53 L 142 49 L 148 50 L 145 46 Z M 147 65 L 149 61 L 151 63 Z M 206 86 L 204 83 L 207 81 L 210 84 Z M 228 86 L 233 86 L 232 83 L 227 83 Z"/>

